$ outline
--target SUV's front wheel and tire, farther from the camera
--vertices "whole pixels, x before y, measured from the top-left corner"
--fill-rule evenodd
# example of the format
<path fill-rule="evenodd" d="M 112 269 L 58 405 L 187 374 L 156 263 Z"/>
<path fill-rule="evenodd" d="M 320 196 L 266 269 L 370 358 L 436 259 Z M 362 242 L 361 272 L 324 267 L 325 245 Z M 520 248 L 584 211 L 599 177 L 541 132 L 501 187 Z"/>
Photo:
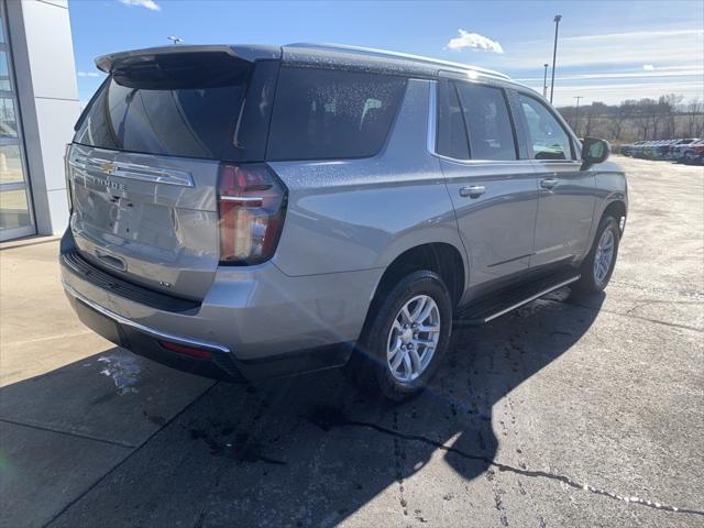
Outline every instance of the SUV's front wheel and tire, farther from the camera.
<path fill-rule="evenodd" d="M 603 250 L 608 248 L 609 238 L 612 241 L 612 250 L 608 267 L 606 267 L 604 260 L 601 261 L 601 266 L 596 266 L 595 261 L 604 255 Z M 605 216 L 598 224 L 592 249 L 580 267 L 581 277 L 573 288 L 575 293 L 580 295 L 595 295 L 604 290 L 614 273 L 619 242 L 620 229 L 618 228 L 618 222 L 614 217 Z M 600 243 L 606 244 L 602 251 L 600 251 Z"/>

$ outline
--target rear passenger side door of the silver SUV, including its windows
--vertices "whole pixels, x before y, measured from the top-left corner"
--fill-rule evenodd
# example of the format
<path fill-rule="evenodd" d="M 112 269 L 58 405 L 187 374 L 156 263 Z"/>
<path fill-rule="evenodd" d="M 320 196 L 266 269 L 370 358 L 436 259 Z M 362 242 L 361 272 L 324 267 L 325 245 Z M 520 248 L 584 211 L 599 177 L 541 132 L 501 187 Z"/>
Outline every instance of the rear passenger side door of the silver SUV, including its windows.
<path fill-rule="evenodd" d="M 471 285 L 525 272 L 538 187 L 519 148 L 504 88 L 441 79 L 437 154 L 470 255 Z"/>

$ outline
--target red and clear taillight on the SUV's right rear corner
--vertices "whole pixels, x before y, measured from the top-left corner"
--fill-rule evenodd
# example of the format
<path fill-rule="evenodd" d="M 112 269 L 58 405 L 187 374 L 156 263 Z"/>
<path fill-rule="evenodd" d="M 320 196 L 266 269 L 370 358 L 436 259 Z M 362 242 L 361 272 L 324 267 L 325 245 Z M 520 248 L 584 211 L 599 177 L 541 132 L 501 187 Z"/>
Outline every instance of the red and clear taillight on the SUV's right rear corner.
<path fill-rule="evenodd" d="M 218 186 L 220 264 L 272 257 L 286 213 L 286 189 L 264 164 L 221 165 Z"/>

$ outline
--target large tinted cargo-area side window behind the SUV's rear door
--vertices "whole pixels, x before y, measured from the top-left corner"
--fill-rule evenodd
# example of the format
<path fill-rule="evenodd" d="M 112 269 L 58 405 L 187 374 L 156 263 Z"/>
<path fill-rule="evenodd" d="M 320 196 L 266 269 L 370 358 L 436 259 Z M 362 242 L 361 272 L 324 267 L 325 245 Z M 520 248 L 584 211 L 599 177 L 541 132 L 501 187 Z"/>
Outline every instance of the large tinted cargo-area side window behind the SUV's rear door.
<path fill-rule="evenodd" d="M 282 67 L 267 158 L 369 157 L 381 151 L 406 79 L 391 75 Z"/>

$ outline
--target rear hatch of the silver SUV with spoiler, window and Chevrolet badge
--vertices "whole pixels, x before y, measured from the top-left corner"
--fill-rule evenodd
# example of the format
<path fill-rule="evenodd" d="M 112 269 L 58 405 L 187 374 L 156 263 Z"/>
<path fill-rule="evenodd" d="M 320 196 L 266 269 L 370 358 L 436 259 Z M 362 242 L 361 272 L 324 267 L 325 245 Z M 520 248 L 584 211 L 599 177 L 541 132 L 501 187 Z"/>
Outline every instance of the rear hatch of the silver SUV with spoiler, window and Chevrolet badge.
<path fill-rule="evenodd" d="M 95 266 L 200 300 L 220 257 L 220 163 L 263 160 L 261 102 L 273 95 L 278 63 L 230 46 L 174 47 L 97 61 L 109 77 L 67 155 L 70 227 Z"/>

